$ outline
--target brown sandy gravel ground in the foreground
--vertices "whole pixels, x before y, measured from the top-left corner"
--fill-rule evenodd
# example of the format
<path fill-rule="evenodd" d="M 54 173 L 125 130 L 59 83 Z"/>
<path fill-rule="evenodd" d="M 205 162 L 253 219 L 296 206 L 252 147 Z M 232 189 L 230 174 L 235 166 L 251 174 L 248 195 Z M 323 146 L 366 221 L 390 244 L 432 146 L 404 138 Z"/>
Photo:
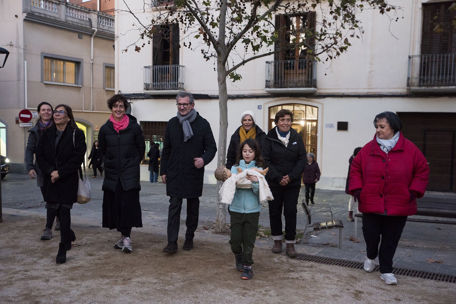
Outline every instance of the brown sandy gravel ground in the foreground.
<path fill-rule="evenodd" d="M 45 218 L 6 208 L 0 223 L 1 303 L 454 303 L 456 285 L 293 260 L 255 248 L 254 279 L 240 279 L 228 236 L 202 231 L 195 249 L 161 252 L 164 233 L 133 231 L 134 251 L 114 249 L 118 233 L 73 217 L 77 240 L 55 263 L 60 235 L 41 241 Z M 179 246 L 183 240 L 180 239 Z"/>

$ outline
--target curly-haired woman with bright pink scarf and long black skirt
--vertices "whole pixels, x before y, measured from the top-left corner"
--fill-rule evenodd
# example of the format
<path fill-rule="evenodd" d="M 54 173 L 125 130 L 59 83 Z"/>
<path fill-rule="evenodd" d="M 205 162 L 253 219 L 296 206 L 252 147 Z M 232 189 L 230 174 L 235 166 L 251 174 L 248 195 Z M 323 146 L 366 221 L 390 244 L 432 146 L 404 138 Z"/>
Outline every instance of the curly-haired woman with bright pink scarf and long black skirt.
<path fill-rule="evenodd" d="M 129 107 L 125 96 L 113 95 L 107 104 L 112 114 L 98 133 L 104 159 L 103 227 L 117 229 L 120 238 L 114 248 L 130 252 L 131 228 L 142 227 L 140 163 L 145 153 L 144 133 L 136 118 L 125 114 Z"/>

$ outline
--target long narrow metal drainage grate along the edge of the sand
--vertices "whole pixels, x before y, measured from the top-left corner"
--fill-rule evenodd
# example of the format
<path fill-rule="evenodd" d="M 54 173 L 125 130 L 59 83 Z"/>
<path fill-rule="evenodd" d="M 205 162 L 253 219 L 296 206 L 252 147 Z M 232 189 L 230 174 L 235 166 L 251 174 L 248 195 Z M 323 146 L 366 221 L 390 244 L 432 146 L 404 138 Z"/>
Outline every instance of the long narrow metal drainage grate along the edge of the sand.
<path fill-rule="evenodd" d="M 337 265 L 342 267 L 354 268 L 354 269 L 363 269 L 364 263 L 354 262 L 343 260 L 341 258 L 326 258 L 326 257 L 319 257 L 316 255 L 311 254 L 298 254 L 298 260 L 307 261 L 307 262 L 314 262 L 326 265 Z M 375 265 L 373 271 L 378 271 L 378 265 Z M 456 276 L 449 275 L 449 274 L 436 274 L 433 272 L 421 271 L 421 270 L 413 270 L 413 269 L 405 269 L 405 268 L 394 268 L 393 274 L 398 275 L 405 275 L 408 277 L 414 278 L 421 278 L 421 279 L 430 279 L 435 281 L 442 281 L 448 283 L 456 283 Z"/>

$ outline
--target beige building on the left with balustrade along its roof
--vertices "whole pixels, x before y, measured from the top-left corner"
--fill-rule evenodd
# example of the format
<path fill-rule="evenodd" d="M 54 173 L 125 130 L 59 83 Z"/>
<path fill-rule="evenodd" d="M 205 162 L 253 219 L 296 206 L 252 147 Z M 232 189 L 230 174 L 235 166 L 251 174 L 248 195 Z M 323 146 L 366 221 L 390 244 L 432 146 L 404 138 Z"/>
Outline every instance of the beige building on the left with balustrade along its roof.
<path fill-rule="evenodd" d="M 10 51 L 0 70 L 0 153 L 10 172 L 26 173 L 30 127 L 19 127 L 19 111 L 36 116 L 42 101 L 72 107 L 87 157 L 114 94 L 114 16 L 63 0 L 1 1 L 0 26 L 0 46 Z"/>

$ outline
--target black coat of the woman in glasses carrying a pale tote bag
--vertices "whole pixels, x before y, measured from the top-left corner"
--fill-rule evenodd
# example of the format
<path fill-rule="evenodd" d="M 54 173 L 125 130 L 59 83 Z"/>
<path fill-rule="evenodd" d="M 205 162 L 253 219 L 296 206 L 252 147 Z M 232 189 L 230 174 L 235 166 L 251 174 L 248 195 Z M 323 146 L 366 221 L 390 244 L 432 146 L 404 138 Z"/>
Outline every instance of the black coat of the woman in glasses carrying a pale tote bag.
<path fill-rule="evenodd" d="M 55 125 L 44 130 L 35 151 L 36 162 L 44 175 L 44 200 L 61 204 L 76 203 L 78 170 L 82 177 L 81 164 L 87 149 L 84 132 L 67 125 L 57 147 L 56 134 Z M 59 178 L 52 183 L 51 173 L 55 170 L 58 171 Z"/>

